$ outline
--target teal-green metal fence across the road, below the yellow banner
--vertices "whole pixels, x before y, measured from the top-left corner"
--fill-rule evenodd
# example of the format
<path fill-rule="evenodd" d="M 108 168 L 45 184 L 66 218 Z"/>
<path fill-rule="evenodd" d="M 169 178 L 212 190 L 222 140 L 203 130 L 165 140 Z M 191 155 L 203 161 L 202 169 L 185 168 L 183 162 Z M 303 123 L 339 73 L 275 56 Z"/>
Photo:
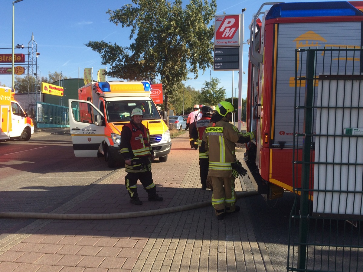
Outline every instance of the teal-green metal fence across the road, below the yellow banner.
<path fill-rule="evenodd" d="M 69 128 L 68 107 L 37 102 L 37 128 Z"/>

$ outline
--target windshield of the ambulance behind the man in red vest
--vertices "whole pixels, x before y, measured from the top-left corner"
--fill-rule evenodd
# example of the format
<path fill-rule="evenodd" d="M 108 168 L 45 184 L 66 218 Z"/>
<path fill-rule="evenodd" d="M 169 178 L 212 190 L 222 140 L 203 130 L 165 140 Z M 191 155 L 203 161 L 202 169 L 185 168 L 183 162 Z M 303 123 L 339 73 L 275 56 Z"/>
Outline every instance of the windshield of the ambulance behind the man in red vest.
<path fill-rule="evenodd" d="M 125 100 L 106 102 L 107 120 L 109 122 L 129 122 L 134 108 L 142 110 L 143 120 L 161 119 L 152 100 Z"/>

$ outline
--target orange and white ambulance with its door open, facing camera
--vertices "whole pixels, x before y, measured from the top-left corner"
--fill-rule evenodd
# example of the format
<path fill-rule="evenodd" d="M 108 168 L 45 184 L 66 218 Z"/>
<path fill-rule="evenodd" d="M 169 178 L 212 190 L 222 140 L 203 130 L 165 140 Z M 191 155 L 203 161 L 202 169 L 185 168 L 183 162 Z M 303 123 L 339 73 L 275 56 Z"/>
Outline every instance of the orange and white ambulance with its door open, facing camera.
<path fill-rule="evenodd" d="M 123 125 L 131 111 L 140 108 L 142 123 L 150 131 L 155 158 L 167 161 L 171 150 L 170 131 L 151 99 L 149 82 L 91 82 L 78 89 L 78 100 L 69 100 L 69 124 L 76 157 L 105 157 L 110 168 L 123 162 L 119 152 Z"/>

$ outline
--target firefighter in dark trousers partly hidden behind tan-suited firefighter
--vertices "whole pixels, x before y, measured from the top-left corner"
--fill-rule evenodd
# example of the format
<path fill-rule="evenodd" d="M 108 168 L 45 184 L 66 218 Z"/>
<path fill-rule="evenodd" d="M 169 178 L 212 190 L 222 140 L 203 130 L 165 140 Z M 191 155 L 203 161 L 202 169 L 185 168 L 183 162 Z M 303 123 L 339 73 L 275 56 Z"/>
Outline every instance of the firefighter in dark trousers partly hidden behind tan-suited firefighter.
<path fill-rule="evenodd" d="M 203 106 L 201 108 L 202 117 L 196 121 L 195 126 L 192 131 L 192 138 L 198 139 L 199 146 L 199 167 L 200 167 L 200 183 L 202 184 L 202 190 L 207 189 L 207 176 L 208 176 L 208 157 L 205 152 L 200 150 L 200 145 L 202 143 L 202 136 L 205 131 L 205 127 L 209 124 L 211 120 L 213 111 L 209 106 Z"/>

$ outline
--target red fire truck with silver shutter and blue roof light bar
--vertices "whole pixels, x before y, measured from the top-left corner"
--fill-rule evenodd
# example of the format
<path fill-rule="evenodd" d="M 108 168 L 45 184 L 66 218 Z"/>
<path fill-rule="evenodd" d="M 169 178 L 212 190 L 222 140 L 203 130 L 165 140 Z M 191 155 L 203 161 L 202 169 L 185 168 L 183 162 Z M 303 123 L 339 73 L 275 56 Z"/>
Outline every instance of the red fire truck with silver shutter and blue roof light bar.
<path fill-rule="evenodd" d="M 266 199 L 293 191 L 293 161 L 299 160 L 293 158 L 294 101 L 304 97 L 295 98 L 295 68 L 305 77 L 306 67 L 295 60 L 295 49 L 362 48 L 362 25 L 363 1 L 266 3 L 253 17 L 246 126 L 257 137 L 245 161 Z"/>

